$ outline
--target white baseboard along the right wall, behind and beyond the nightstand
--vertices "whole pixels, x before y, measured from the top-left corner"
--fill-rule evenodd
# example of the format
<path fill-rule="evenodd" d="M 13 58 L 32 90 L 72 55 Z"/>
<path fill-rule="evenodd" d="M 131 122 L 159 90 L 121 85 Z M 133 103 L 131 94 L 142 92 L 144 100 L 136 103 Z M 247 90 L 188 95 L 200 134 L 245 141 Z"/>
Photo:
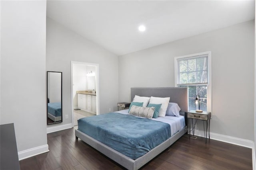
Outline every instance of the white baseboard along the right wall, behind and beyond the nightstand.
<path fill-rule="evenodd" d="M 195 130 L 195 135 L 204 137 L 204 131 Z M 246 148 L 251 148 L 251 149 L 254 148 L 254 141 L 241 139 L 241 138 L 237 138 L 237 137 L 221 135 L 218 133 L 210 132 L 210 139 L 214 139 L 216 141 L 222 141 L 222 142 L 226 142 L 226 143 L 231 143 L 231 144 L 239 145 L 239 146 L 246 147 Z"/>

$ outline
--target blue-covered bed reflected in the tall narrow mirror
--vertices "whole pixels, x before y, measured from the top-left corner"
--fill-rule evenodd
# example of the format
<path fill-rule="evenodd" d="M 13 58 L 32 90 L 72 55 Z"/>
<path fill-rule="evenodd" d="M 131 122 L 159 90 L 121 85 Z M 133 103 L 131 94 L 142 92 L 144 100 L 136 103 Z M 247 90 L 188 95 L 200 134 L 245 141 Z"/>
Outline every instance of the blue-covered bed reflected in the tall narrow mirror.
<path fill-rule="evenodd" d="M 47 104 L 48 118 L 52 121 L 61 121 L 62 110 L 61 102 L 48 103 Z"/>

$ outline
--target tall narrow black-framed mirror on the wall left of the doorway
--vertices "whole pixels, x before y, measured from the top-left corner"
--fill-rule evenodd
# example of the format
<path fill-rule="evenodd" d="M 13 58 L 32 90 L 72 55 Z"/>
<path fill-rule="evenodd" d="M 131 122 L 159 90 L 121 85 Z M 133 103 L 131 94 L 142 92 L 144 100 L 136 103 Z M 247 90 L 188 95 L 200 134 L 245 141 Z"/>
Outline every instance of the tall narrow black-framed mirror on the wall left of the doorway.
<path fill-rule="evenodd" d="M 47 124 L 62 122 L 62 72 L 47 71 Z"/>

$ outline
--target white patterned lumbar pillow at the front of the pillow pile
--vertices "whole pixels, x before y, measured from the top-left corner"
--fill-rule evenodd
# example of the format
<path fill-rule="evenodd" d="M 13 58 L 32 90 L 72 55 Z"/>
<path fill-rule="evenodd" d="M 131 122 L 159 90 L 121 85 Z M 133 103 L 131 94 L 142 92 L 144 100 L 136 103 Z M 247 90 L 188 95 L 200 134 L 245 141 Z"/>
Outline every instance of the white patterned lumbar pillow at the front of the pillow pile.
<path fill-rule="evenodd" d="M 129 114 L 134 116 L 145 117 L 147 119 L 152 119 L 154 111 L 155 107 L 132 106 Z"/>

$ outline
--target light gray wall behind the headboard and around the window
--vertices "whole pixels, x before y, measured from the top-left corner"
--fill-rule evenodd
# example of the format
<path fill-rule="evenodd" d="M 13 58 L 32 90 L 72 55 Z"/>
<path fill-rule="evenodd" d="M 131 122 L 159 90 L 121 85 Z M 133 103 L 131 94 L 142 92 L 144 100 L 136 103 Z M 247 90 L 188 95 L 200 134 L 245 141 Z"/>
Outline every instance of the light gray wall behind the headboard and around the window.
<path fill-rule="evenodd" d="M 131 87 L 174 86 L 174 57 L 204 51 L 212 51 L 211 133 L 254 141 L 254 20 L 119 57 L 119 101 L 130 101 Z"/>

